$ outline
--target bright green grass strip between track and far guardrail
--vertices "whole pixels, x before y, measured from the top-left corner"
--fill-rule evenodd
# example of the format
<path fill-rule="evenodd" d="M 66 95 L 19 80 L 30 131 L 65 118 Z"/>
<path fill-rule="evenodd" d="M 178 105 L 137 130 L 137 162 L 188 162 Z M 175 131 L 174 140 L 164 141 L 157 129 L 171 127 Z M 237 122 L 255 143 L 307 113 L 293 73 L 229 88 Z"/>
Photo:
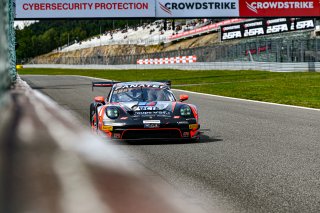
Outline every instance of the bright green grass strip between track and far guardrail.
<path fill-rule="evenodd" d="M 320 73 L 25 68 L 19 74 L 82 75 L 119 81 L 171 80 L 177 89 L 320 108 Z"/>

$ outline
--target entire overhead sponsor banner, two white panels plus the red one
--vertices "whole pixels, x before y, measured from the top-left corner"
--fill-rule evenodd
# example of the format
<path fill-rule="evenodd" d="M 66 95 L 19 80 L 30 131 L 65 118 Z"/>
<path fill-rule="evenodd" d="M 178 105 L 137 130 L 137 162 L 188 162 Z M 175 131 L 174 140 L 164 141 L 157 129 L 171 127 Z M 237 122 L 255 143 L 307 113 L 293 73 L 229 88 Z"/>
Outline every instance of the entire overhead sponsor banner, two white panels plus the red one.
<path fill-rule="evenodd" d="M 15 0 L 15 19 L 319 17 L 319 0 Z"/>

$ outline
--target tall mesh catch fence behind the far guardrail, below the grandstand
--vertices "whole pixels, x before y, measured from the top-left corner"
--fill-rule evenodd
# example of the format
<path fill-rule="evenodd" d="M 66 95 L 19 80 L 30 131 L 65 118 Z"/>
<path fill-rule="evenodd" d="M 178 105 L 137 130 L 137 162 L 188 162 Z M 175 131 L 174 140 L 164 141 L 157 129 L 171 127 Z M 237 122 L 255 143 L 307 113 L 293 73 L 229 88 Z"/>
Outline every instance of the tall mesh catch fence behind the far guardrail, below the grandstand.
<path fill-rule="evenodd" d="M 212 46 L 181 49 L 137 55 L 82 57 L 51 57 L 36 58 L 33 64 L 101 64 L 120 65 L 136 64 L 139 59 L 169 58 L 176 56 L 195 55 L 197 62 L 319 62 L 320 39 L 311 39 L 310 31 L 300 34 L 284 33 L 277 37 L 240 40 L 237 43 L 221 42 Z"/>

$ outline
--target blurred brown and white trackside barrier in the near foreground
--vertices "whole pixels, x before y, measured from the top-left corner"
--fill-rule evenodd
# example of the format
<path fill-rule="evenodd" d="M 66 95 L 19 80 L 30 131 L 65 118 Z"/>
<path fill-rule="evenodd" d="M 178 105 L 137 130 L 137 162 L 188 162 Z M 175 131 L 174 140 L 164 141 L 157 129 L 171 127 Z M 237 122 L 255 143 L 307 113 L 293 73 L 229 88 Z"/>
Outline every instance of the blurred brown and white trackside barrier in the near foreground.
<path fill-rule="evenodd" d="M 198 212 L 20 79 L 4 100 L 0 212 Z"/>

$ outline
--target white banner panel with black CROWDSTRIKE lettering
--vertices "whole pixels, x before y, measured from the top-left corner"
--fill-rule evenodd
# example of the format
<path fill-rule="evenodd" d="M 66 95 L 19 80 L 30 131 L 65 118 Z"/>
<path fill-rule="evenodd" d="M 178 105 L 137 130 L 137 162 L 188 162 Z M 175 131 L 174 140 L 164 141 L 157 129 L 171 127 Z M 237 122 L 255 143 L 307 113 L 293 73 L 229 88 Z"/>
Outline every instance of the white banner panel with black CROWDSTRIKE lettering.
<path fill-rule="evenodd" d="M 238 17 L 238 0 L 156 0 L 162 18 Z"/>

